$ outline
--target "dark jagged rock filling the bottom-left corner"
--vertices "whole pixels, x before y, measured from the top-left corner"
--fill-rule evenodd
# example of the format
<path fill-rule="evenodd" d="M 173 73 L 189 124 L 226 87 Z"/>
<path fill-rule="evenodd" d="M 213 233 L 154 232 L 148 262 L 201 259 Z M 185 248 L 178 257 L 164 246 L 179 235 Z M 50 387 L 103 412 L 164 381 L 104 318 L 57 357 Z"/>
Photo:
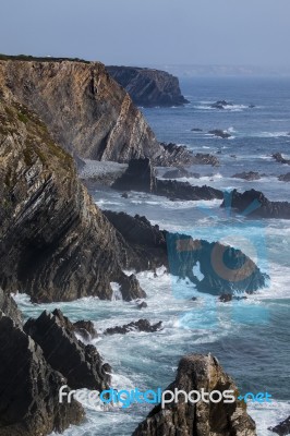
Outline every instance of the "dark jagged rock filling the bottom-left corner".
<path fill-rule="evenodd" d="M 59 403 L 67 379 L 47 364 L 40 347 L 0 311 L 0 435 L 48 435 L 84 417 L 74 400 Z"/>

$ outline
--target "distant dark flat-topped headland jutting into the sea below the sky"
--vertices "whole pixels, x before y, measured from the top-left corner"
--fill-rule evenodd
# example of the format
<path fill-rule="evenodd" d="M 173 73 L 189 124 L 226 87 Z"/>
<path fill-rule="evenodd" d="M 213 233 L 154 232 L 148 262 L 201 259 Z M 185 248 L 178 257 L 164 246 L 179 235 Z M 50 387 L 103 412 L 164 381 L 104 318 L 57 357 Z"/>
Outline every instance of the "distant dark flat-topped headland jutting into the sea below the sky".
<path fill-rule="evenodd" d="M 106 66 L 108 73 L 143 107 L 183 106 L 189 102 L 181 94 L 178 77 L 153 69 Z"/>

